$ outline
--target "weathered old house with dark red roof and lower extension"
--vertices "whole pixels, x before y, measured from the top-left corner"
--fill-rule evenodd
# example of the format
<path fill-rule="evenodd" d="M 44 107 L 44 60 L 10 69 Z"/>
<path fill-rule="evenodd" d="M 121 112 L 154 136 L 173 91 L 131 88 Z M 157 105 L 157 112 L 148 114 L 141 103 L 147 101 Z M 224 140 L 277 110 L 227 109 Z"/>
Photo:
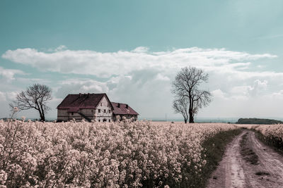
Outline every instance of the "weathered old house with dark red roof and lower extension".
<path fill-rule="evenodd" d="M 68 94 L 57 106 L 57 120 L 96 120 L 112 122 L 117 115 L 137 120 L 137 113 L 128 104 L 110 102 L 107 94 Z"/>

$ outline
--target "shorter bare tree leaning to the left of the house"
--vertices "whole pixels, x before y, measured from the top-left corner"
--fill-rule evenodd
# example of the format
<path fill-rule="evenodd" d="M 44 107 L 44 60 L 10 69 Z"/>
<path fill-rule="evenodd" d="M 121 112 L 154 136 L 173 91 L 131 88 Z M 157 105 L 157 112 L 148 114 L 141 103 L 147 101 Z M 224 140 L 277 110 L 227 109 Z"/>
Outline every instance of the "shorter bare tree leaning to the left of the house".
<path fill-rule="evenodd" d="M 50 101 L 51 89 L 44 84 L 33 84 L 26 91 L 17 94 L 16 100 L 10 104 L 10 107 L 18 107 L 19 111 L 35 109 L 40 113 L 40 120 L 45 121 L 45 113 L 50 110 L 46 105 Z"/>

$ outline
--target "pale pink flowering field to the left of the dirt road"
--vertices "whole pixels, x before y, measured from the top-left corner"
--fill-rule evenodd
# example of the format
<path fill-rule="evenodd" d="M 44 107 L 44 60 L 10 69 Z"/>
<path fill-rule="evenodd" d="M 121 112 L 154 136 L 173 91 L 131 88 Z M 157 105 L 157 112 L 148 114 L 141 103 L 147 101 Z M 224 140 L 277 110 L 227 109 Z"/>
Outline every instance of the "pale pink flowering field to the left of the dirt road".
<path fill-rule="evenodd" d="M 168 187 L 194 181 L 229 124 L 0 120 L 0 186 Z"/>

